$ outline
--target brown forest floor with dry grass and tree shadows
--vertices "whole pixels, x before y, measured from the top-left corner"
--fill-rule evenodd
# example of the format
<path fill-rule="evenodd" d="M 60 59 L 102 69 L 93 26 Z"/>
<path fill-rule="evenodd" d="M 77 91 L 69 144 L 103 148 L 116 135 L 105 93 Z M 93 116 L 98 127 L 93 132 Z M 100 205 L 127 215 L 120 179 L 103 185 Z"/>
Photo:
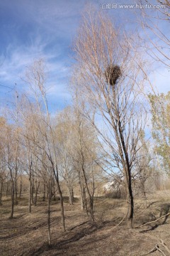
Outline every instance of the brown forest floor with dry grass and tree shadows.
<path fill-rule="evenodd" d="M 170 255 L 170 191 L 149 195 L 147 201 L 135 199 L 133 229 L 126 228 L 125 200 L 99 197 L 95 203 L 95 222 L 81 212 L 79 200 L 73 206 L 64 198 L 67 231 L 62 232 L 60 202 L 52 201 L 52 246 L 47 245 L 47 202 L 38 199 L 38 205 L 28 213 L 28 198 L 22 196 L 10 215 L 10 198 L 0 206 L 0 255 Z M 165 217 L 157 222 L 138 226 Z M 118 225 L 120 223 L 120 225 Z M 118 226 L 117 226 L 118 225 Z M 166 247 L 167 246 L 167 247 Z"/>

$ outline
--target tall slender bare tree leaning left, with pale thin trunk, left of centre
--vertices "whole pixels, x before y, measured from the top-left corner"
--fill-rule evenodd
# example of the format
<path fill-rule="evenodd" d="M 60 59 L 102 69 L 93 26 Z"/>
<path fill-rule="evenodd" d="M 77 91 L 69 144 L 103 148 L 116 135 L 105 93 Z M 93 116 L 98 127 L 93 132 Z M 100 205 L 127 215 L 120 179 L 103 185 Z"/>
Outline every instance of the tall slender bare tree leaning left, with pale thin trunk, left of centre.
<path fill-rule="evenodd" d="M 35 98 L 35 105 L 38 111 L 38 119 L 35 120 L 36 129 L 38 129 L 41 137 L 40 144 L 38 140 L 34 141 L 34 144 L 44 151 L 48 161 L 50 161 L 53 175 L 57 185 L 57 191 L 60 196 L 61 215 L 62 215 L 62 229 L 65 231 L 64 222 L 64 203 L 62 197 L 62 191 L 60 188 L 59 171 L 57 163 L 57 151 L 54 137 L 54 130 L 52 129 L 52 120 L 47 104 L 47 95 L 45 89 L 45 63 L 42 59 L 35 60 L 32 66 L 30 66 L 26 72 L 26 82 L 30 86 L 33 96 Z M 45 112 L 43 111 L 43 108 Z"/>

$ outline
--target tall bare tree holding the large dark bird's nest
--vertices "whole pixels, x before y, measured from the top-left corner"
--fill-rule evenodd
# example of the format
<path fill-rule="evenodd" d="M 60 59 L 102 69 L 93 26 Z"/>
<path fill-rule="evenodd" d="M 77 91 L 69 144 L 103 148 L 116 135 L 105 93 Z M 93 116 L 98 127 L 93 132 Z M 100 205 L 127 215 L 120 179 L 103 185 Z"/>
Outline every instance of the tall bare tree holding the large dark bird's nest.
<path fill-rule="evenodd" d="M 113 171 L 117 169 L 125 177 L 129 227 L 134 214 L 132 168 L 140 149 L 140 131 L 146 124 L 140 95 L 142 63 L 133 42 L 116 31 L 109 18 L 87 11 L 74 46 L 72 80 L 81 102 L 79 109 L 98 132 L 99 142 L 105 144 Z"/>

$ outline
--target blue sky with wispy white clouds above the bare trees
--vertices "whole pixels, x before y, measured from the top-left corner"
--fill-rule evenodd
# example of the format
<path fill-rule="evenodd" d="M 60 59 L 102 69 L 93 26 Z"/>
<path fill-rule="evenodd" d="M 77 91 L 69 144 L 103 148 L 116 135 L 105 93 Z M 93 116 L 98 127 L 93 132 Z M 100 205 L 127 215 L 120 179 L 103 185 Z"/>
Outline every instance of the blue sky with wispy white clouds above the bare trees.
<path fill-rule="evenodd" d="M 122 23 L 126 30 L 132 32 L 139 26 L 131 9 L 106 9 L 102 4 L 107 0 L 88 3 L 106 12 L 115 23 Z M 24 74 L 37 58 L 44 58 L 47 65 L 50 111 L 71 104 L 72 44 L 86 4 L 83 0 L 0 0 L 0 107 L 5 107 L 16 91 L 19 95 L 28 91 Z M 169 70 L 163 65 L 152 70 L 150 79 L 157 83 L 159 92 L 170 89 Z"/>

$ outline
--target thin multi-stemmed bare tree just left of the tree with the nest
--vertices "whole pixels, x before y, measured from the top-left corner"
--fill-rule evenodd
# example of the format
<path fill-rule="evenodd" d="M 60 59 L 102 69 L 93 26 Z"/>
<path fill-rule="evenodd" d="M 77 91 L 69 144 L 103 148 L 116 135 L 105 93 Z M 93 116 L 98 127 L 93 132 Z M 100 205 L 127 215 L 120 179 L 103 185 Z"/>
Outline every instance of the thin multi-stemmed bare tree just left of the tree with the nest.
<path fill-rule="evenodd" d="M 96 159 L 98 142 L 96 131 L 82 115 L 79 106 L 74 106 L 74 150 L 73 159 L 78 171 L 81 191 L 81 208 L 94 220 L 94 193 L 96 190 Z"/>

